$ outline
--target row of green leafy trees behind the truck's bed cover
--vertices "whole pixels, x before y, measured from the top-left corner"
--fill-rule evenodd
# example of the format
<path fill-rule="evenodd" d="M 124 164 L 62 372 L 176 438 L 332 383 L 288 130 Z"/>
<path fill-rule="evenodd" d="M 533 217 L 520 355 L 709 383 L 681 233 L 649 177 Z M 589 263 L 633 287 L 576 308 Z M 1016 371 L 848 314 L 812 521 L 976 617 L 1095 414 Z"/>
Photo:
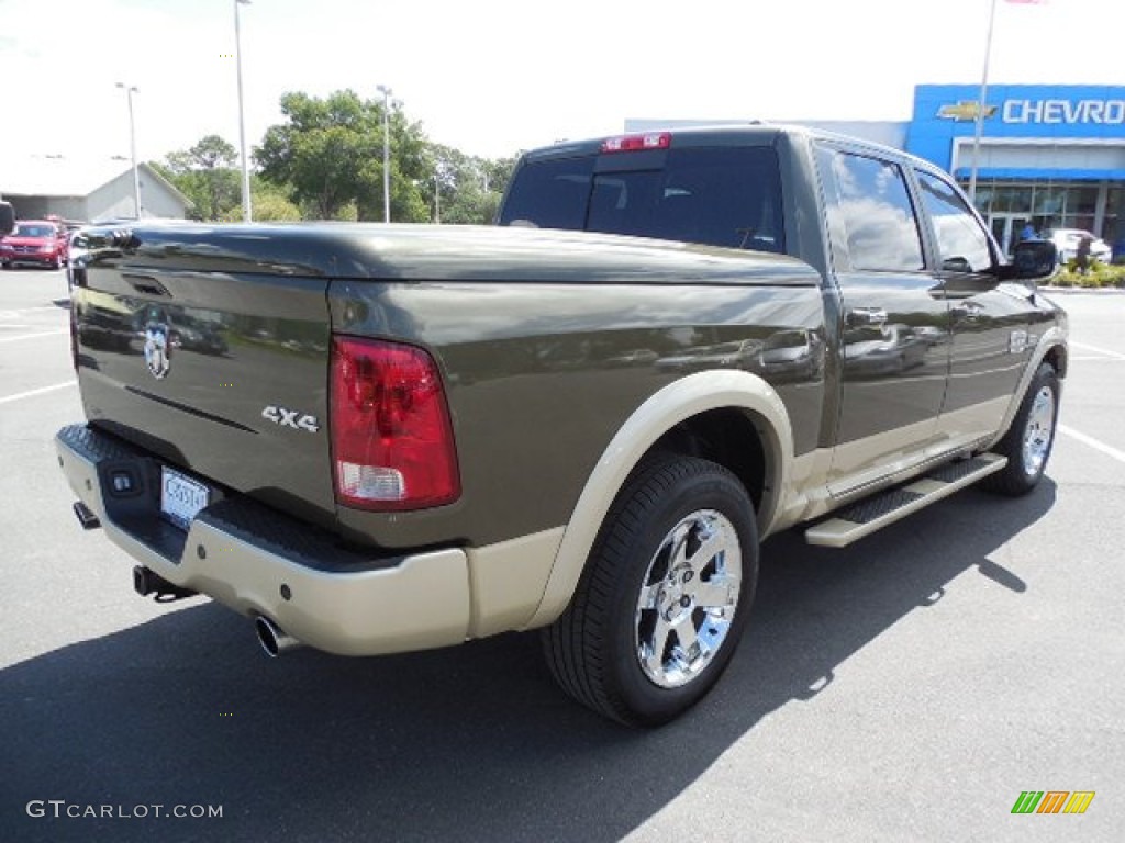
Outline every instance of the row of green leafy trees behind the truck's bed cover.
<path fill-rule="evenodd" d="M 402 103 L 362 99 L 354 91 L 326 98 L 290 92 L 284 121 L 254 148 L 254 219 L 382 220 L 384 118 L 389 127 L 390 218 L 399 223 L 487 225 L 495 218 L 515 158 L 492 161 L 432 143 Z M 201 220 L 241 218 L 241 178 L 234 146 L 217 135 L 158 164 L 195 203 Z"/>

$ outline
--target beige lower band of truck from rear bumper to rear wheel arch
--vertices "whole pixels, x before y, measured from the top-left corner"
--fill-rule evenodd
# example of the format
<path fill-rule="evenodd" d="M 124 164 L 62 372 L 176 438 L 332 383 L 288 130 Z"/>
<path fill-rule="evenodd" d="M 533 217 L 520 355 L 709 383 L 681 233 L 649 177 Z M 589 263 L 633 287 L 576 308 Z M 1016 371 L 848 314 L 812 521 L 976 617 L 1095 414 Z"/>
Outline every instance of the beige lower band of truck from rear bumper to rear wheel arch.
<path fill-rule="evenodd" d="M 94 462 L 60 439 L 56 451 L 71 489 L 140 564 L 340 655 L 425 650 L 521 628 L 542 599 L 564 532 L 428 551 L 394 566 L 342 572 L 298 564 L 197 519 L 173 560 L 107 516 Z M 252 635 L 249 627 L 246 634 Z"/>

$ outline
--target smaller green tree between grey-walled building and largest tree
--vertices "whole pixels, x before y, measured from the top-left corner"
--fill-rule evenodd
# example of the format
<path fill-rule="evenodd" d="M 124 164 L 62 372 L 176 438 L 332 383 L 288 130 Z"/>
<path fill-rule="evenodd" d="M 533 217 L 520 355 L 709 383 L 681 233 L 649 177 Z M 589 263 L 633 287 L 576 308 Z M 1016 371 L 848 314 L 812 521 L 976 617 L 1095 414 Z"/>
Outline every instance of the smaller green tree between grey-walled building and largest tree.
<path fill-rule="evenodd" d="M 242 201 L 238 154 L 218 135 L 207 135 L 189 149 L 170 153 L 156 164 L 161 175 L 192 202 L 192 219 L 226 218 Z"/>

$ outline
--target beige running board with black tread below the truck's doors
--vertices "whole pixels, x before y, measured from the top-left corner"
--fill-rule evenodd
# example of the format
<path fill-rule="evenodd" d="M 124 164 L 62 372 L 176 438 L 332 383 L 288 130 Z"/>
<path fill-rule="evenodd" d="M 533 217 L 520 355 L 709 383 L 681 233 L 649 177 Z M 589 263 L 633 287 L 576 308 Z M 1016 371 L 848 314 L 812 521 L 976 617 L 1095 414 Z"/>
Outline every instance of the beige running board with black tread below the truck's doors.
<path fill-rule="evenodd" d="M 824 547 L 846 547 L 958 489 L 972 486 L 1007 464 L 1008 457 L 999 454 L 981 454 L 948 463 L 906 486 L 888 489 L 842 509 L 835 517 L 804 531 L 804 541 Z"/>

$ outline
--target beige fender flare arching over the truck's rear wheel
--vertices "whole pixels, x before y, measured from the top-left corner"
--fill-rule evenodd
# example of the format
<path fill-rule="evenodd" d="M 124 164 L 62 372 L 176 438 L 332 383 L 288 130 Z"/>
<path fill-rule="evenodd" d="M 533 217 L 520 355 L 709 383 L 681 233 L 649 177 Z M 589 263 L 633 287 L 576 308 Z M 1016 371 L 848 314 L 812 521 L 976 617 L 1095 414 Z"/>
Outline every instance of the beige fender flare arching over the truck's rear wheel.
<path fill-rule="evenodd" d="M 714 410 L 741 411 L 757 429 L 766 464 L 756 515 L 759 535 L 768 534 L 793 460 L 793 433 L 784 404 L 773 387 L 749 372 L 686 375 L 641 404 L 602 452 L 567 522 L 542 600 L 526 628 L 546 626 L 566 609 L 614 498 L 646 454 L 678 425 Z"/>

